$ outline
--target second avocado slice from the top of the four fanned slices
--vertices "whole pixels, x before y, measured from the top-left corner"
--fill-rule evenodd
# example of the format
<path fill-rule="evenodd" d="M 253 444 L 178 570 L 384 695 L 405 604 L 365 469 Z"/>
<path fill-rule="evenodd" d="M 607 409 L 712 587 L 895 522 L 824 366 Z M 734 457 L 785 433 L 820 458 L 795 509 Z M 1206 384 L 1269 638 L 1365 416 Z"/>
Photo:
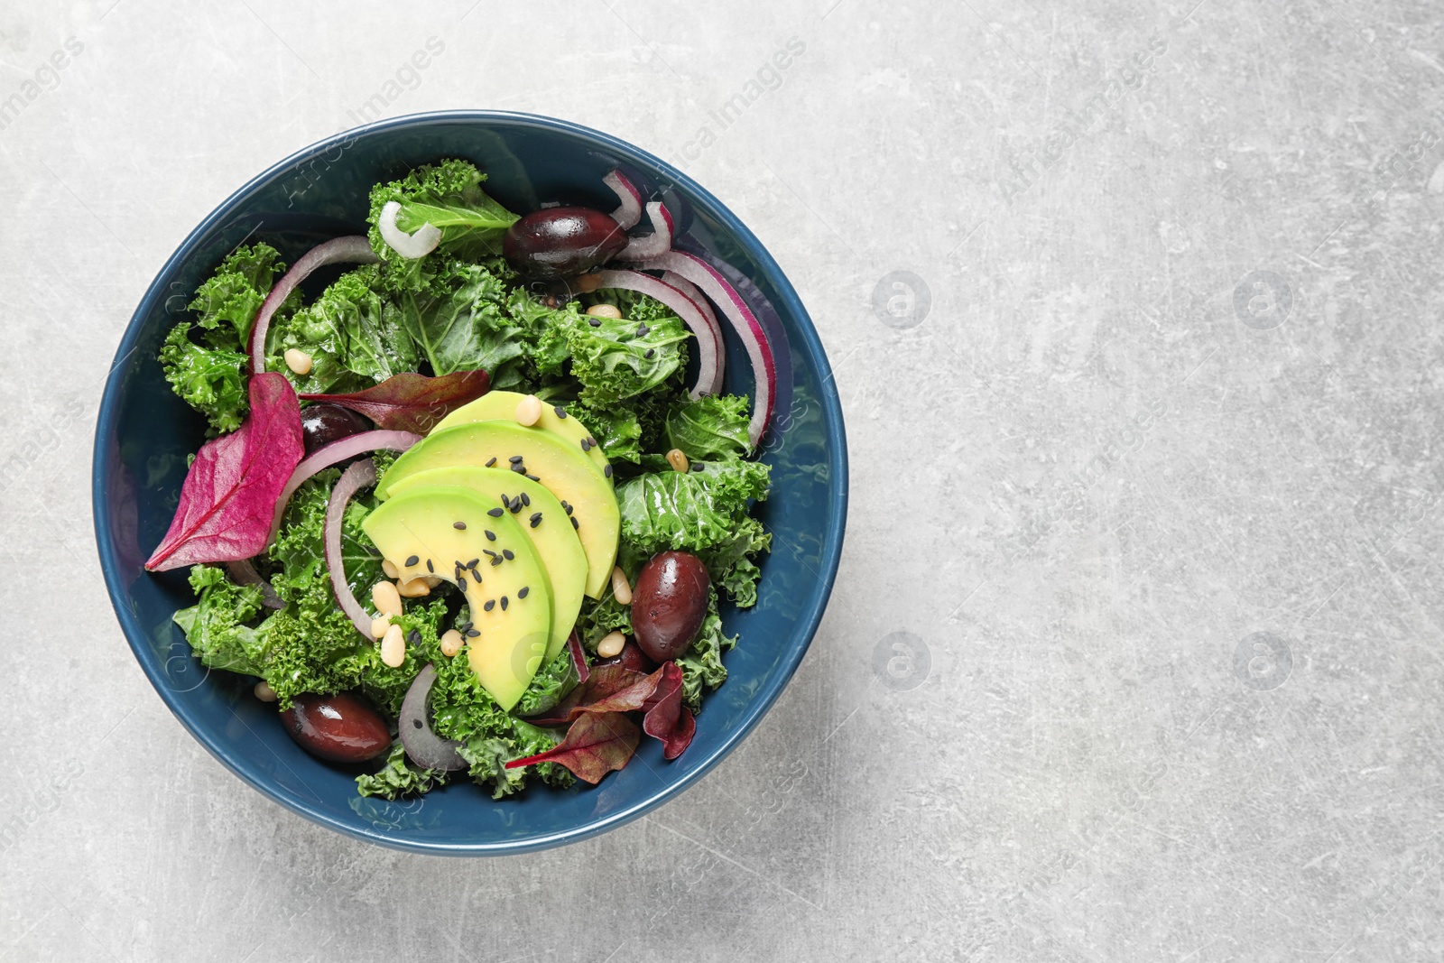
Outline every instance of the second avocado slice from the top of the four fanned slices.
<path fill-rule="evenodd" d="M 520 461 L 511 461 L 511 459 Z M 617 494 L 580 448 L 550 432 L 516 422 L 472 422 L 438 429 L 396 459 L 375 487 L 377 498 L 391 495 L 391 485 L 432 468 L 511 468 L 542 482 L 567 510 L 586 553 L 586 593 L 593 599 L 612 578 L 621 514 Z"/>

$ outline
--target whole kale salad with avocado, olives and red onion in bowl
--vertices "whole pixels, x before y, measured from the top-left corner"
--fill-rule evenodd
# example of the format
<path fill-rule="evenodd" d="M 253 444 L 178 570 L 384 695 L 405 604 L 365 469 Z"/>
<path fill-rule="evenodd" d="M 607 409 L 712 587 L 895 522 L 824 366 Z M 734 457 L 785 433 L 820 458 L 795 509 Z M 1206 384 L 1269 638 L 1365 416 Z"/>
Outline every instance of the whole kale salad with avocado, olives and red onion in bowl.
<path fill-rule="evenodd" d="M 611 212 L 518 217 L 484 180 L 375 185 L 367 235 L 289 267 L 235 248 L 160 349 L 209 440 L 146 567 L 189 566 L 196 658 L 362 796 L 677 758 L 771 543 L 773 352 L 718 261 L 621 172 Z M 722 323 L 752 398 L 722 393 Z"/>

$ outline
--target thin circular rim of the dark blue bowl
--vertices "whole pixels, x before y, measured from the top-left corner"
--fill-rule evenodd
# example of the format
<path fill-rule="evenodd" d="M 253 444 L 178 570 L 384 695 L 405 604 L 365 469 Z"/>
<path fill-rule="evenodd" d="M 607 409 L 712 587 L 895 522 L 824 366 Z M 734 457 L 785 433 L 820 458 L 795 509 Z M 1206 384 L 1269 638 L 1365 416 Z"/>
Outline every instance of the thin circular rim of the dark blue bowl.
<path fill-rule="evenodd" d="M 297 163 L 315 157 L 316 154 L 332 149 L 338 143 L 351 141 L 357 137 L 373 136 L 397 128 L 422 127 L 432 124 L 452 124 L 452 123 L 495 123 L 503 121 L 510 126 L 517 127 L 531 127 L 553 133 L 566 133 L 578 136 L 602 147 L 621 154 L 624 157 L 631 157 L 640 160 L 645 166 L 651 166 L 658 172 L 664 173 L 667 178 L 673 179 L 677 185 L 683 186 L 686 192 L 706 201 L 719 215 L 719 221 L 726 227 L 734 235 L 747 247 L 748 254 L 757 261 L 758 269 L 762 274 L 768 277 L 774 290 L 777 292 L 777 299 L 781 302 L 780 306 L 786 306 L 787 312 L 799 319 L 799 335 L 801 348 L 807 352 L 809 358 L 817 365 L 817 372 L 820 377 L 822 390 L 819 393 L 819 403 L 825 410 L 825 430 L 829 445 L 829 494 L 832 498 L 832 510 L 827 515 L 827 530 L 823 537 L 823 552 L 822 552 L 822 566 L 817 572 L 819 585 L 813 592 L 813 598 L 794 619 L 794 632 L 797 627 L 801 627 L 804 635 L 800 645 L 787 657 L 781 664 L 781 673 L 777 674 L 773 681 L 764 687 L 758 697 L 749 706 L 747 715 L 742 718 L 741 723 L 728 733 L 721 745 L 712 751 L 712 754 L 705 758 L 700 765 L 693 768 L 690 772 L 677 778 L 676 781 L 667 783 L 666 785 L 657 788 L 647 794 L 643 800 L 628 806 L 627 809 L 611 813 L 605 817 L 573 826 L 566 830 L 559 830 L 547 833 L 543 836 L 534 836 L 520 840 L 504 840 L 497 843 L 435 843 L 426 840 L 413 840 L 397 836 L 390 836 L 386 832 L 377 830 L 375 827 L 361 827 L 355 824 L 348 824 L 342 820 L 332 819 L 331 816 L 310 809 L 302 800 L 286 798 L 283 794 L 276 793 L 271 787 L 266 785 L 261 778 L 257 778 L 248 771 L 248 764 L 243 757 L 232 752 L 224 741 L 214 739 L 211 735 L 198 725 L 195 715 L 186 707 L 185 702 L 180 699 L 182 693 L 172 692 L 168 686 L 160 684 L 159 668 L 153 664 L 155 660 L 147 658 L 150 647 L 146 644 L 149 638 L 144 628 L 140 625 L 136 614 L 124 605 L 124 586 L 120 583 L 120 576 L 117 575 L 117 566 L 114 559 L 117 556 L 117 549 L 114 540 L 110 536 L 111 531 L 111 510 L 107 498 L 110 472 L 107 469 L 107 445 L 116 436 L 117 422 L 120 416 L 118 394 L 120 384 L 124 378 L 123 364 L 136 351 L 137 341 L 140 338 L 140 328 L 146 316 L 155 309 L 156 303 L 165 297 L 166 289 L 160 286 L 160 279 L 170 274 L 178 269 L 186 258 L 189 258 L 201 238 L 208 234 L 212 228 L 219 225 L 232 214 L 232 209 L 238 206 L 243 199 L 270 182 L 271 179 L 283 175 L 287 169 L 295 167 Z M 762 716 L 768 713 L 773 703 L 777 702 L 787 683 L 791 680 L 793 674 L 797 671 L 797 666 L 801 664 L 803 657 L 812 647 L 812 641 L 817 634 L 817 628 L 822 624 L 823 612 L 827 606 L 827 601 L 832 595 L 832 586 L 836 580 L 838 566 L 842 557 L 842 543 L 848 521 L 848 445 L 846 433 L 842 420 L 842 404 L 838 397 L 836 383 L 832 377 L 832 365 L 827 361 L 826 351 L 823 349 L 822 339 L 817 336 L 817 331 L 812 323 L 812 316 L 803 306 L 801 299 L 793 289 L 791 282 L 783 273 L 783 269 L 773 258 L 771 253 L 762 243 L 752 234 L 751 230 L 742 221 L 732 214 L 732 211 L 722 204 L 716 196 L 712 195 L 706 188 L 699 185 L 696 180 L 689 178 L 682 170 L 677 170 L 666 160 L 651 154 L 641 147 L 637 147 L 619 137 L 612 134 L 585 127 L 567 120 L 559 120 L 554 117 L 546 117 L 542 114 L 526 114 L 518 111 L 498 111 L 498 110 L 445 110 L 445 111 L 427 111 L 417 114 L 404 114 L 401 117 L 393 117 L 387 120 L 374 121 L 371 124 L 364 124 L 361 127 L 352 127 L 331 137 L 325 137 L 308 147 L 303 147 L 286 159 L 271 165 L 261 173 L 256 175 L 237 191 L 234 191 L 225 201 L 222 201 L 211 214 L 201 219 L 201 222 L 185 237 L 183 241 L 176 247 L 170 257 L 165 261 L 156 276 L 152 279 L 144 296 L 131 313 L 130 321 L 126 325 L 126 331 L 121 335 L 120 344 L 116 348 L 116 358 L 111 361 L 110 371 L 105 377 L 105 388 L 101 394 L 100 411 L 95 420 L 95 440 L 91 455 L 91 513 L 95 527 L 95 541 L 100 553 L 101 570 L 105 578 L 105 589 L 110 595 L 111 606 L 116 611 L 116 618 L 120 622 L 120 628 L 126 635 L 126 641 L 130 644 L 131 653 L 136 661 L 140 664 L 142 671 L 150 681 L 152 687 L 165 702 L 170 713 L 180 722 L 182 726 L 199 742 L 206 751 L 215 757 L 227 770 L 235 774 L 243 783 L 248 784 L 257 793 L 266 798 L 279 803 L 280 806 L 289 809 L 290 811 L 302 816 L 303 819 L 325 826 L 334 832 L 344 836 L 358 839 L 368 843 L 375 843 L 390 849 L 400 849 L 416 853 L 430 853 L 430 855 L 452 855 L 452 856 L 494 856 L 494 855 L 516 855 L 524 852 L 536 852 L 542 849 L 550 849 L 554 846 L 562 846 L 566 843 L 580 842 L 583 839 L 591 839 L 599 836 L 608 830 L 624 826 L 648 811 L 657 809 L 663 803 L 676 798 L 683 791 L 695 785 L 702 777 L 713 770 L 723 758 L 726 758 L 741 742 L 745 739 L 751 731 L 761 722 Z"/>

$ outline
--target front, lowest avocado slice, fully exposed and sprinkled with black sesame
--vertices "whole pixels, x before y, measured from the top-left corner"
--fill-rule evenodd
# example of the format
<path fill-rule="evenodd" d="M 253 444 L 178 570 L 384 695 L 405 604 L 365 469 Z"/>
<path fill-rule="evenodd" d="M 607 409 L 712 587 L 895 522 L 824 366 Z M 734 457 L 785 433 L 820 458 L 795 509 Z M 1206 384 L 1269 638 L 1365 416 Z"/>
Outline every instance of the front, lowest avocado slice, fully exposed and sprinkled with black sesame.
<path fill-rule="evenodd" d="M 474 488 L 435 485 L 397 494 L 367 515 L 361 528 L 400 578 L 435 575 L 462 586 L 471 606 L 471 670 L 510 712 L 531 684 L 552 637 L 546 570 L 511 513 Z M 488 540 L 487 531 L 497 540 Z"/>

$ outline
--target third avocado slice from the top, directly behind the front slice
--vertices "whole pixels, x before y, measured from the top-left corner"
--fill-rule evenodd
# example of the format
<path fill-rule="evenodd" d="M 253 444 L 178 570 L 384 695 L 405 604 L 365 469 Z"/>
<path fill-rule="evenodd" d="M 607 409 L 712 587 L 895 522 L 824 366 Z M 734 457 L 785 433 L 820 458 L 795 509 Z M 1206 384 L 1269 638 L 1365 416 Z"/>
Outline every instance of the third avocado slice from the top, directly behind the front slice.
<path fill-rule="evenodd" d="M 546 647 L 546 661 L 552 661 L 576 625 L 582 611 L 582 595 L 586 591 L 586 553 L 582 541 L 566 520 L 566 511 L 556 495 L 539 482 L 500 468 L 432 468 L 407 475 L 394 485 L 391 494 L 432 487 L 471 488 L 487 498 L 494 498 L 508 508 L 531 543 L 537 560 L 546 570 L 552 588 L 552 641 Z M 526 504 L 523 504 L 526 495 Z M 488 528 L 487 531 L 494 530 Z M 487 546 L 491 547 L 491 546 Z M 468 556 L 469 557 L 469 556 Z M 465 562 L 466 559 L 464 559 Z"/>

